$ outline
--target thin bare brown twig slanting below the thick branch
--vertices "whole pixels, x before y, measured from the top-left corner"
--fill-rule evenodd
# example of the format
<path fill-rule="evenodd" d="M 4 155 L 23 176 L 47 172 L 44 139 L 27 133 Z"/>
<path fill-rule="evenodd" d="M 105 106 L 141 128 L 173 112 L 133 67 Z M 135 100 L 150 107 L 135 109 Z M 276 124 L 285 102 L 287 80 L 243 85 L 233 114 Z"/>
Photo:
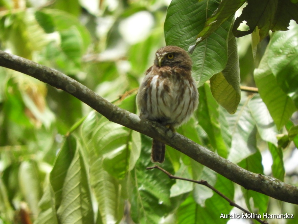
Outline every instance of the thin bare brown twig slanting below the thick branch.
<path fill-rule="evenodd" d="M 186 180 L 186 181 L 190 181 L 190 182 L 194 182 L 194 183 L 197 183 L 197 184 L 204 185 L 204 186 L 210 188 L 215 193 L 217 193 L 222 198 L 224 198 L 226 201 L 228 201 L 231 206 L 234 206 L 236 208 L 239 208 L 240 210 L 244 211 L 247 214 L 250 214 L 251 213 L 250 211 L 246 210 L 245 208 L 242 208 L 240 205 L 236 204 L 231 199 L 229 199 L 228 197 L 226 197 L 224 194 L 222 194 L 220 191 L 218 191 L 216 188 L 214 188 L 212 185 L 210 185 L 206 180 L 197 181 L 197 180 L 192 180 L 192 179 L 183 178 L 183 177 L 176 177 L 176 176 L 170 174 L 168 171 L 164 170 L 163 168 L 161 168 L 158 165 L 155 165 L 155 166 L 147 167 L 146 168 L 146 170 L 152 170 L 152 169 L 159 169 L 159 170 L 161 170 L 162 172 L 164 172 L 165 174 L 167 174 L 170 179 Z M 259 223 L 268 224 L 268 222 L 266 220 L 261 220 L 259 218 L 254 218 L 254 219 L 257 220 Z"/>

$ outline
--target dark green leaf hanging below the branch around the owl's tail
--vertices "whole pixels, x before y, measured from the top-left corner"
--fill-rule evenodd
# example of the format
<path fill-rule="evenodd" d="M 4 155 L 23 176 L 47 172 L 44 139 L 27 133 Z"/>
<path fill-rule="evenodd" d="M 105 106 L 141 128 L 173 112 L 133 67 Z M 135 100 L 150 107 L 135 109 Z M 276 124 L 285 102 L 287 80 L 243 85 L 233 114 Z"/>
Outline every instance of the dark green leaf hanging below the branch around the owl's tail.
<path fill-rule="evenodd" d="M 175 183 L 160 170 L 146 170 L 152 166 L 150 162 L 151 138 L 141 135 L 142 150 L 134 170 L 133 191 L 131 193 L 131 217 L 135 223 L 158 223 L 161 218 L 173 210 L 175 200 L 170 200 L 170 188 Z M 173 173 L 169 160 L 163 163 L 163 168 Z"/>

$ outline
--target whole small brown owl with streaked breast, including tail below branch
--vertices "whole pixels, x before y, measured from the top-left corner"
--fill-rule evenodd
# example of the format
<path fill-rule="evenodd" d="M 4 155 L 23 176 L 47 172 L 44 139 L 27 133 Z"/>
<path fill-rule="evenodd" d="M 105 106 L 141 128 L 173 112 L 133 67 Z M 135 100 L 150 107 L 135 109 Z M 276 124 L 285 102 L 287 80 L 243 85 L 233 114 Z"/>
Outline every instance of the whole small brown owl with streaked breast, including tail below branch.
<path fill-rule="evenodd" d="M 192 61 L 180 47 L 156 51 L 153 66 L 137 94 L 140 117 L 175 128 L 190 119 L 198 107 L 198 90 L 191 76 Z M 164 161 L 165 144 L 153 139 L 151 161 Z"/>

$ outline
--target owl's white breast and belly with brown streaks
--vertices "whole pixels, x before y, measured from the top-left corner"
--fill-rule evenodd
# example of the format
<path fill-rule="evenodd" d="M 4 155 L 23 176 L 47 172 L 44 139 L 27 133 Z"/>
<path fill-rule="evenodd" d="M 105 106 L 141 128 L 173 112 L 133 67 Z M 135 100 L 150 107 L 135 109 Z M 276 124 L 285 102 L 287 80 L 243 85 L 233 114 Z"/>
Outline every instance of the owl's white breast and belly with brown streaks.
<path fill-rule="evenodd" d="M 153 71 L 154 69 L 151 72 Z M 173 75 L 172 70 L 167 75 L 152 74 L 146 87 L 146 94 L 142 99 L 146 106 L 141 108 L 140 114 L 144 118 L 179 126 L 189 119 L 197 107 L 197 103 L 190 99 L 190 96 L 197 97 L 196 88 L 188 79 Z"/>

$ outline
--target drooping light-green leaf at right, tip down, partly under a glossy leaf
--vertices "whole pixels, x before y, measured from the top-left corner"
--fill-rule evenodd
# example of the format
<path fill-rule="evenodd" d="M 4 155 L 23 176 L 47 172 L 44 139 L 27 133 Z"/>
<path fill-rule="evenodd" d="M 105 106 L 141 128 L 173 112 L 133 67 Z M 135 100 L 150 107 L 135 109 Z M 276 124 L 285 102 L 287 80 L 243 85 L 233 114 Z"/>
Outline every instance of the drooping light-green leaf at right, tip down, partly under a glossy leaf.
<path fill-rule="evenodd" d="M 268 65 L 269 57 L 267 48 L 259 67 L 254 70 L 254 80 L 277 129 L 280 130 L 288 122 L 296 108 L 293 100 L 277 84 L 277 80 Z"/>

